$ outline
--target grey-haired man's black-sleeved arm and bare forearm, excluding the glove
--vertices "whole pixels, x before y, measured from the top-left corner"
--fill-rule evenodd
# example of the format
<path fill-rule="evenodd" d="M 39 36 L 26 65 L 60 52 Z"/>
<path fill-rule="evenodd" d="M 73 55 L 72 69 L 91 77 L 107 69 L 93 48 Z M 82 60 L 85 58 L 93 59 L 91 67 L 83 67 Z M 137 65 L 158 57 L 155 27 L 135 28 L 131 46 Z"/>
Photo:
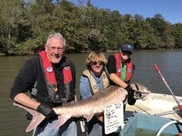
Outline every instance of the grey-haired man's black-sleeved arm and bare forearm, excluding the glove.
<path fill-rule="evenodd" d="M 40 103 L 32 100 L 26 94 L 34 86 L 35 75 L 35 59 L 28 60 L 16 76 L 10 92 L 10 97 L 13 101 L 32 109 L 37 109 L 40 105 Z"/>

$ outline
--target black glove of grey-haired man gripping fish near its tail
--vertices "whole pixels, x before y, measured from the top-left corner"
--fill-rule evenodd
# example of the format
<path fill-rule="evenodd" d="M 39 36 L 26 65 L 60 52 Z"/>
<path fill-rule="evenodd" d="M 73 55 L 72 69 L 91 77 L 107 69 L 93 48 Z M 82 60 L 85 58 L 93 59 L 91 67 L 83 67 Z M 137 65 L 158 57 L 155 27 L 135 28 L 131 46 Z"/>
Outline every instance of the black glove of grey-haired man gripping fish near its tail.
<path fill-rule="evenodd" d="M 54 112 L 54 110 L 45 104 L 40 104 L 37 107 L 37 111 L 42 113 L 47 119 L 57 116 L 56 113 Z"/>

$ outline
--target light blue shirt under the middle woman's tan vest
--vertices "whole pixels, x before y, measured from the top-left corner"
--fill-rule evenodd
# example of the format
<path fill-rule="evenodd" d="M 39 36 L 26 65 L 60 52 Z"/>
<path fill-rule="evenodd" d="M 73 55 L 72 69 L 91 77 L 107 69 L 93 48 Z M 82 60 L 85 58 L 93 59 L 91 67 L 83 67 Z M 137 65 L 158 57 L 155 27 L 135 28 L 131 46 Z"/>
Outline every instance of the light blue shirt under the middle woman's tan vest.
<path fill-rule="evenodd" d="M 99 91 L 102 91 L 104 89 L 102 78 L 96 77 L 92 72 L 91 74 L 93 75 L 97 83 Z M 89 97 L 92 96 L 90 81 L 86 76 L 80 77 L 80 93 L 81 93 L 82 99 L 88 99 Z"/>

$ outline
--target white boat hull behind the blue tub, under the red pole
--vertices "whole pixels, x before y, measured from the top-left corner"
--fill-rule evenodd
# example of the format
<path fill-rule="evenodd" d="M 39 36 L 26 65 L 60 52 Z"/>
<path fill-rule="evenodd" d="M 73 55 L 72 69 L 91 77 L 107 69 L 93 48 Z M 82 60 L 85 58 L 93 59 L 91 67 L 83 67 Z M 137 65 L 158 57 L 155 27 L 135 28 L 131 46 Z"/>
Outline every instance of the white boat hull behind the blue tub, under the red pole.
<path fill-rule="evenodd" d="M 182 105 L 182 97 L 176 96 L 180 105 Z M 135 105 L 126 106 L 126 117 L 133 112 L 156 115 L 175 120 L 182 119 L 182 111 L 178 109 L 178 105 L 172 95 L 150 93 L 145 100 L 137 100 Z M 129 115 L 130 114 L 130 115 Z"/>

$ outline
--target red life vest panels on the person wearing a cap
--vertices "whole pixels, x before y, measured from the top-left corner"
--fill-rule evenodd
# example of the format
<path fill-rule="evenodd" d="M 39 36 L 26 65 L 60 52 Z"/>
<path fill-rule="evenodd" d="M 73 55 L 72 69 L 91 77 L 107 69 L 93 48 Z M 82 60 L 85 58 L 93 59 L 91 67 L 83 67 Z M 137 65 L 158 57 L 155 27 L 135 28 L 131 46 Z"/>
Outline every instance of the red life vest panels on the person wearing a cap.
<path fill-rule="evenodd" d="M 122 75 L 122 68 L 121 68 L 121 54 L 115 53 L 115 59 L 116 59 L 116 75 L 118 77 L 121 77 Z M 124 81 L 130 81 L 133 75 L 133 63 L 131 62 L 131 60 L 129 60 L 126 63 L 126 78 Z"/>

